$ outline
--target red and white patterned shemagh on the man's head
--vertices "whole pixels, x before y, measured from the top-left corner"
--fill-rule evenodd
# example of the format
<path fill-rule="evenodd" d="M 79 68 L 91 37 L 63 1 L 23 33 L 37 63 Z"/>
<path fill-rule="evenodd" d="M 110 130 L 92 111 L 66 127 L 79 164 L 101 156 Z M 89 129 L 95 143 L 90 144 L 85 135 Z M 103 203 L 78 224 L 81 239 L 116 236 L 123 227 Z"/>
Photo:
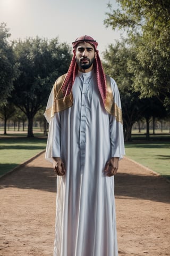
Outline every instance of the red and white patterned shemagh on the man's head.
<path fill-rule="evenodd" d="M 96 73 L 97 85 L 101 95 L 101 99 L 103 100 L 103 103 L 105 106 L 106 94 L 107 94 L 106 77 L 105 77 L 103 66 L 101 64 L 101 60 L 99 58 L 99 54 L 97 50 L 98 43 L 91 36 L 87 36 L 87 35 L 80 36 L 75 40 L 75 42 L 72 43 L 74 55 L 71 60 L 70 67 L 67 71 L 67 76 L 62 86 L 62 92 L 64 96 L 69 95 L 71 93 L 72 86 L 75 81 L 75 77 L 77 76 L 77 73 L 78 73 L 78 65 L 75 59 L 75 47 L 80 42 L 87 42 L 93 45 L 95 47 L 95 51 L 97 52 L 96 59 L 94 60 L 94 71 Z"/>

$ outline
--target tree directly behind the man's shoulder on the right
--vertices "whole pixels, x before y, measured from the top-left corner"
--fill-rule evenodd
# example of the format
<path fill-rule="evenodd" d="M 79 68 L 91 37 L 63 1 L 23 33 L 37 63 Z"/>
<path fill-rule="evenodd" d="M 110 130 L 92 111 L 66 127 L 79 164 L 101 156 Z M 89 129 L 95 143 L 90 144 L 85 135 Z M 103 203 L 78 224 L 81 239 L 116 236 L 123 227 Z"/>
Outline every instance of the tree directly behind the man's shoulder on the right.
<path fill-rule="evenodd" d="M 125 141 L 131 140 L 132 126 L 141 119 L 147 107 L 145 102 L 139 99 L 139 93 L 134 92 L 132 87 L 133 77 L 128 71 L 128 61 L 134 58 L 133 49 L 126 47 L 126 41 L 117 42 L 115 46 L 111 44 L 104 52 L 105 71 L 114 77 L 120 90 Z"/>

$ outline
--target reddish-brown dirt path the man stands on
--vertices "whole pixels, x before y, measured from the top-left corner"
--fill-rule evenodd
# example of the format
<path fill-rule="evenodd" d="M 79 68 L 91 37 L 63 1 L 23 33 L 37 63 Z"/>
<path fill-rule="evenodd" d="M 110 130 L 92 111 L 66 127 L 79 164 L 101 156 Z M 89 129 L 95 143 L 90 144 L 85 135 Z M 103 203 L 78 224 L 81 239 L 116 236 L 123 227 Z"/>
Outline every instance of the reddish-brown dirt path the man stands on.
<path fill-rule="evenodd" d="M 52 256 L 56 180 L 44 154 L 0 188 L 0 256 Z M 119 256 L 170 255 L 170 183 L 124 158 L 115 197 Z"/>

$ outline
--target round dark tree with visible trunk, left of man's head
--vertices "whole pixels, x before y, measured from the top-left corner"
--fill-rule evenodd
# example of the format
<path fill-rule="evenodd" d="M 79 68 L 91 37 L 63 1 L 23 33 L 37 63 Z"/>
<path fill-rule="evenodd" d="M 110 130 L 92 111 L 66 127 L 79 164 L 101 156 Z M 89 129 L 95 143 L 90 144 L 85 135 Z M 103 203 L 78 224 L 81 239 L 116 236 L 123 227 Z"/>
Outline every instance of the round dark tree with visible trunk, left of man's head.
<path fill-rule="evenodd" d="M 58 38 L 28 38 L 14 42 L 20 63 L 20 76 L 14 81 L 11 101 L 28 118 L 28 137 L 33 137 L 33 117 L 43 108 L 56 78 L 66 73 L 71 60 L 70 47 Z"/>

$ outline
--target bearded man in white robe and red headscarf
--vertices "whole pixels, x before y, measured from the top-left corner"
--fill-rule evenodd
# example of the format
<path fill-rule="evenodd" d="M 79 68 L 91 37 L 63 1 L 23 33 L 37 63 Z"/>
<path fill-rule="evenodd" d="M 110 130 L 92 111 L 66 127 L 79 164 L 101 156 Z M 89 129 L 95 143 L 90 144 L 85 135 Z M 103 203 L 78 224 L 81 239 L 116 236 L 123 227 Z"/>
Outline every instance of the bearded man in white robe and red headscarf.
<path fill-rule="evenodd" d="M 117 256 L 114 175 L 124 155 L 120 95 L 98 43 L 81 36 L 50 94 L 46 159 L 57 174 L 54 256 Z"/>

